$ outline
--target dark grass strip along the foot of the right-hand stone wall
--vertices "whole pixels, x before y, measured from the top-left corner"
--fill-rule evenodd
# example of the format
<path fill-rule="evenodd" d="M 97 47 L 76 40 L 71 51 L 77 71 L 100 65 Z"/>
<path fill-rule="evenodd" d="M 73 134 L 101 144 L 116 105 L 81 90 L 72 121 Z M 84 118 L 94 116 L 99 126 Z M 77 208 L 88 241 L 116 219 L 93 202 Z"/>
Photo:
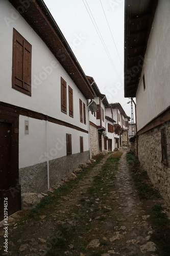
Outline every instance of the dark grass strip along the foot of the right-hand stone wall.
<path fill-rule="evenodd" d="M 147 206 L 149 207 L 148 214 L 154 229 L 151 239 L 159 247 L 159 255 L 169 256 L 170 221 L 167 218 L 165 207 L 159 204 L 159 199 L 161 199 L 159 191 L 153 187 L 147 172 L 140 167 L 135 154 L 129 151 L 126 156 L 139 198 L 143 200 L 145 205 L 149 205 Z M 158 201 L 158 204 L 155 204 L 156 201 Z"/>

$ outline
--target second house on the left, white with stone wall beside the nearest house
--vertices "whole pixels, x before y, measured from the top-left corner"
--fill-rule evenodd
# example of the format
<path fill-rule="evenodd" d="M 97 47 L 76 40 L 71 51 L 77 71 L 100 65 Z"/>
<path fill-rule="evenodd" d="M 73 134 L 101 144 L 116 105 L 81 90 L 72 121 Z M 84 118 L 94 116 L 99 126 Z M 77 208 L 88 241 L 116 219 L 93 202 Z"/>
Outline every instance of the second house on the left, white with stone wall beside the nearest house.
<path fill-rule="evenodd" d="M 99 154 L 100 152 L 107 151 L 108 142 L 106 136 L 105 110 L 110 106 L 106 95 L 100 92 L 93 77 L 87 76 L 87 78 L 95 93 L 94 102 L 97 106 L 96 112 L 89 111 L 90 150 L 91 155 L 93 156 Z"/>

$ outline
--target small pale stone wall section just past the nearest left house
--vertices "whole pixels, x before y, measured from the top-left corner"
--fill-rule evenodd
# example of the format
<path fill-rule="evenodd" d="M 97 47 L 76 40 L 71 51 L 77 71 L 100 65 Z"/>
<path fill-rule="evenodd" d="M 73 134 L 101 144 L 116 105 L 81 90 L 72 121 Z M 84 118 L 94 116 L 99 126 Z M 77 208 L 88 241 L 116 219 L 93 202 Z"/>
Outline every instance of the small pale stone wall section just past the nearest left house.
<path fill-rule="evenodd" d="M 98 130 L 92 125 L 90 125 L 90 149 L 91 156 L 99 154 Z"/>

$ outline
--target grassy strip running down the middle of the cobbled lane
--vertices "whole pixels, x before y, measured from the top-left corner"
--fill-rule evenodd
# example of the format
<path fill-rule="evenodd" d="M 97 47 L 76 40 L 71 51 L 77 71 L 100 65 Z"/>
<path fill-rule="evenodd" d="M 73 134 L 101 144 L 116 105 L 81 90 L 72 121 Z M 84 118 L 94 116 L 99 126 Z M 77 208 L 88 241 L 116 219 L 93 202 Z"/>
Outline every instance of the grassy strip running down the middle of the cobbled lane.
<path fill-rule="evenodd" d="M 122 154 L 122 152 L 114 153 L 106 160 L 100 174 L 93 179 L 91 186 L 82 195 L 79 207 L 74 207 L 74 216 L 77 216 L 77 218 L 70 217 L 72 224 L 69 224 L 69 221 L 65 226 L 58 225 L 57 229 L 62 234 L 62 244 L 56 243 L 47 252 L 47 256 L 64 255 L 65 251 L 69 251 L 72 255 L 86 253 L 87 245 L 91 241 L 91 232 L 94 232 L 96 236 L 95 227 L 101 225 L 105 220 L 106 214 L 111 210 L 106 207 L 102 198 L 103 194 L 112 190 L 110 186 L 106 185 L 106 183 L 108 184 L 108 177 L 112 187 L 114 186 L 115 174 Z M 104 241 L 104 243 L 106 242 Z M 90 255 L 101 255 L 104 253 L 104 249 L 88 248 L 88 253 Z"/>

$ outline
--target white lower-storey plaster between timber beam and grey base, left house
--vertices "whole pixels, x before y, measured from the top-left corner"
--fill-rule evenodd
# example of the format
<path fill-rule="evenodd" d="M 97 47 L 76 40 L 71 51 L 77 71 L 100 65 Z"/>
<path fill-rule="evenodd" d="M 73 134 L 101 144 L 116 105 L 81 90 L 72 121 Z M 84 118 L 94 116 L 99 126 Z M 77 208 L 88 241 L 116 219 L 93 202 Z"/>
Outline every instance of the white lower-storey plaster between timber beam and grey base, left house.
<path fill-rule="evenodd" d="M 29 122 L 28 135 L 25 134 L 25 120 Z M 71 134 L 72 154 L 80 153 L 80 136 L 83 137 L 83 150 L 89 150 L 87 133 L 51 122 L 46 126 L 44 120 L 20 115 L 19 168 L 66 156 L 66 133 Z"/>

